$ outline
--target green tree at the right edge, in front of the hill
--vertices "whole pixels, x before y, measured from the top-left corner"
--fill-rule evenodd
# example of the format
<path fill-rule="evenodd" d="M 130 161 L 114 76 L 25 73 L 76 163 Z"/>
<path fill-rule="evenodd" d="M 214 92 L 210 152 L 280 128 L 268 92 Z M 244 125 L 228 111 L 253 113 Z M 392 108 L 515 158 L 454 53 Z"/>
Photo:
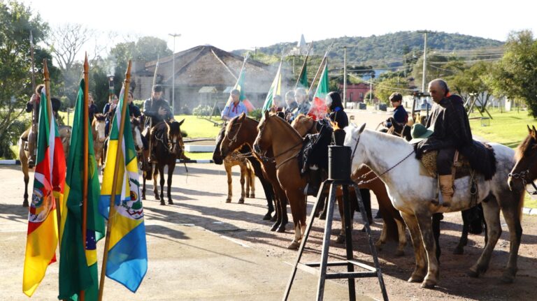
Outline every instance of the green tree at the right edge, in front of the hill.
<path fill-rule="evenodd" d="M 511 33 L 506 52 L 488 78 L 496 96 L 524 101 L 537 118 L 537 41 L 531 31 Z"/>

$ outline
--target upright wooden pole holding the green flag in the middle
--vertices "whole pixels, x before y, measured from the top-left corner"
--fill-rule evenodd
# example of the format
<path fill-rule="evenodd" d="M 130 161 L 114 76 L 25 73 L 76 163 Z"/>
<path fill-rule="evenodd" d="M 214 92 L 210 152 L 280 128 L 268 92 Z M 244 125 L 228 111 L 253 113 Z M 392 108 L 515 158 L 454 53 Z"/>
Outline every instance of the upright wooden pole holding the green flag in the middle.
<path fill-rule="evenodd" d="M 87 131 L 87 128 L 90 124 L 90 112 L 88 109 L 88 90 L 90 89 L 90 82 L 89 82 L 89 70 L 90 70 L 90 64 L 87 62 L 87 52 L 84 59 L 84 138 L 83 138 L 83 185 L 82 185 L 82 244 L 84 252 L 86 251 L 86 240 L 87 240 L 87 162 L 89 161 L 89 145 L 88 145 L 88 136 L 89 133 Z M 78 294 L 80 296 L 80 301 L 85 300 L 85 291 L 81 290 Z"/>

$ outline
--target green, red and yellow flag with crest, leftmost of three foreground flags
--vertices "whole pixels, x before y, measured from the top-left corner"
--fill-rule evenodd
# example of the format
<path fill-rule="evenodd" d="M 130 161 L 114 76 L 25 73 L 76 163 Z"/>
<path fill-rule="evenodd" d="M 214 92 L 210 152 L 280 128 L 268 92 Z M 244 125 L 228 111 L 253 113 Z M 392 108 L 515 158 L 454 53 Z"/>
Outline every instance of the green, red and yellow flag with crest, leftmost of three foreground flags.
<path fill-rule="evenodd" d="M 58 221 L 55 198 L 62 200 L 65 184 L 65 156 L 56 120 L 45 89 L 39 102 L 39 126 L 34 190 L 28 214 L 28 233 L 22 291 L 31 296 L 56 261 Z"/>

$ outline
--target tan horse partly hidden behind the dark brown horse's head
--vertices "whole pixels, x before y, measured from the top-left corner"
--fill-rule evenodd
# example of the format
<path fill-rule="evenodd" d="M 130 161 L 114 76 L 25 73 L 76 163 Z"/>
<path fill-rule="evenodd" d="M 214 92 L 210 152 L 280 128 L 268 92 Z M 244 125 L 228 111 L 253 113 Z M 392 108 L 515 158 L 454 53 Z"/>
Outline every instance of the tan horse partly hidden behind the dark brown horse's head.
<path fill-rule="evenodd" d="M 213 152 L 213 161 L 217 165 L 222 165 L 223 163 L 226 170 L 226 203 L 231 203 L 231 197 L 233 196 L 233 179 L 231 177 L 231 168 L 234 166 L 241 168 L 241 198 L 238 199 L 238 203 L 243 204 L 244 198 L 255 198 L 255 172 L 250 161 L 241 156 L 240 152 L 232 152 L 231 154 L 227 154 L 227 156 L 222 156 L 222 152 L 220 152 L 220 145 L 222 144 L 225 130 L 225 128 L 220 129 L 220 132 L 217 135 L 215 151 Z"/>

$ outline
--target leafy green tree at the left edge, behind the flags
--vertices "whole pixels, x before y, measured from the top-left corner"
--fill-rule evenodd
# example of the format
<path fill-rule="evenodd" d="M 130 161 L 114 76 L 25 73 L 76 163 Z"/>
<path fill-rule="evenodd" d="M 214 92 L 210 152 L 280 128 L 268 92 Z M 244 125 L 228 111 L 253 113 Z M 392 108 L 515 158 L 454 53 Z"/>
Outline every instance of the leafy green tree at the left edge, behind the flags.
<path fill-rule="evenodd" d="M 30 30 L 36 44 L 43 41 L 48 24 L 22 3 L 0 1 L 0 156 L 13 156 L 9 146 L 16 143 L 20 129 L 27 126 L 14 124 L 20 123 L 18 118 L 32 94 Z M 36 51 L 36 54 L 39 54 L 35 56 L 36 67 L 42 70 L 41 61 L 37 59 L 45 53 Z M 36 80 L 38 78 L 36 74 Z"/>

